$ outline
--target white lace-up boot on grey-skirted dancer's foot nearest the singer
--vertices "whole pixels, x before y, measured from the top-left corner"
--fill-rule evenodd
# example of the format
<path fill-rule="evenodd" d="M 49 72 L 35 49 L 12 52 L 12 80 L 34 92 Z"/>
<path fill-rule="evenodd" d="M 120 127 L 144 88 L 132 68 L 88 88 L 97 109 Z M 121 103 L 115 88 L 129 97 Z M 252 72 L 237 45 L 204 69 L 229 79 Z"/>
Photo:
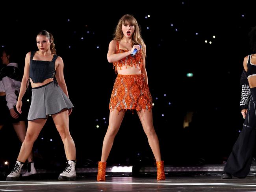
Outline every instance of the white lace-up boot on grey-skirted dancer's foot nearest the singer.
<path fill-rule="evenodd" d="M 68 160 L 67 167 L 61 174 L 59 174 L 58 179 L 64 181 L 76 180 L 76 163 L 74 161 Z"/>

